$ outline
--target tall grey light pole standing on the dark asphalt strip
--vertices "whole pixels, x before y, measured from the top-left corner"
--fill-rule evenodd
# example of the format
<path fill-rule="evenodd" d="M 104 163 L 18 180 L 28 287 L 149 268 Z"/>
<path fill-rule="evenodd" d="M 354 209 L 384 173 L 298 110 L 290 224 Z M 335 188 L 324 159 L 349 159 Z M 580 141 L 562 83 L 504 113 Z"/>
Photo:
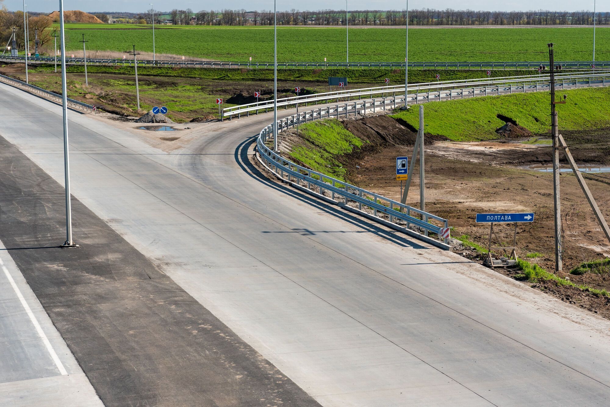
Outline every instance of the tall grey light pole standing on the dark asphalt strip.
<path fill-rule="evenodd" d="M 63 30 L 63 0 L 59 0 L 59 46 L 62 49 L 63 171 L 66 191 L 66 241 L 62 247 L 77 247 L 72 240 L 72 205 L 70 203 L 70 160 L 68 158 L 68 90 L 66 87 L 66 41 Z"/>

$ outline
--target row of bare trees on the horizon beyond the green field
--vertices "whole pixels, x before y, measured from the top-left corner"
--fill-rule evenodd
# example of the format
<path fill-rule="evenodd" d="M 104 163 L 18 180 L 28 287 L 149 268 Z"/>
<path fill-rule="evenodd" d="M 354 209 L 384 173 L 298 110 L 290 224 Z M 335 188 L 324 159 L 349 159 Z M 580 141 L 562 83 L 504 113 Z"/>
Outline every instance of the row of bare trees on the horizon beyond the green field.
<path fill-rule="evenodd" d="M 174 9 L 169 22 L 176 25 L 206 26 L 259 26 L 273 24 L 273 10 L 201 10 L 193 14 L 191 9 Z M 352 10 L 348 12 L 348 23 L 354 26 L 404 26 L 406 10 Z M 578 12 L 553 10 L 528 10 L 499 12 L 484 10 L 409 10 L 409 24 L 413 26 L 554 26 L 592 25 L 594 13 L 590 10 Z M 152 10 L 143 18 L 152 22 Z M 163 23 L 156 13 L 156 23 Z M 346 23 L 345 10 L 300 11 L 296 9 L 278 12 L 281 26 L 342 26 Z M 598 12 L 597 24 L 610 24 L 610 12 Z"/>

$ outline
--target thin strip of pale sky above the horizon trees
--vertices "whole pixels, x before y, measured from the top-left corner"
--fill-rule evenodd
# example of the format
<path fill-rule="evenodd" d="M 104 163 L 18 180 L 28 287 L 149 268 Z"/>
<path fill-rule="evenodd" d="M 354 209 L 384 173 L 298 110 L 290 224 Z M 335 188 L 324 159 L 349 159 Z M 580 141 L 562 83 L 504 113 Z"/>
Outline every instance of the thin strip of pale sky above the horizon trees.
<path fill-rule="evenodd" d="M 271 0 L 223 0 L 218 1 L 201 1 L 201 0 L 174 0 L 171 2 L 162 2 L 159 0 L 64 0 L 63 8 L 65 10 L 83 10 L 85 12 L 142 12 L 150 8 L 149 1 L 154 2 L 154 8 L 161 11 L 169 11 L 171 9 L 187 9 L 190 8 L 194 12 L 199 10 L 209 9 L 246 9 L 246 10 L 264 10 L 273 9 L 273 1 Z M 387 10 L 387 9 L 404 9 L 406 1 L 396 0 L 348 0 L 350 10 Z M 27 9 L 37 12 L 52 12 L 59 10 L 59 0 L 25 0 Z M 593 10 L 594 0 L 411 0 L 409 1 L 409 9 L 422 9 L 429 7 L 431 9 L 473 9 L 473 10 L 531 10 L 531 9 L 547 9 L 547 10 Z M 23 10 L 23 0 L 4 0 L 4 4 L 9 10 Z M 305 7 L 306 4 L 306 7 Z M 597 0 L 598 11 L 609 11 L 610 0 Z M 345 1 L 343 0 L 278 0 L 278 10 L 320 10 L 320 9 L 343 9 Z"/>

